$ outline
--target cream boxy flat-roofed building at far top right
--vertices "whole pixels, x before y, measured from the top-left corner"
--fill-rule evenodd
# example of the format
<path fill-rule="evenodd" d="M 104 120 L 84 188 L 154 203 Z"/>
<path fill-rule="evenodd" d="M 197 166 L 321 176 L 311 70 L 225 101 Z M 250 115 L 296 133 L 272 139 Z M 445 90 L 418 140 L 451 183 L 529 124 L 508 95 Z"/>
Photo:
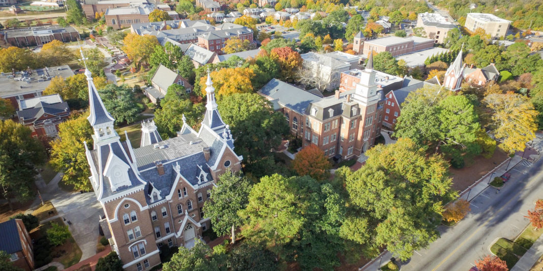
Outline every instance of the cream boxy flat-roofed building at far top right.
<path fill-rule="evenodd" d="M 475 32 L 477 28 L 481 28 L 491 37 L 504 37 L 507 35 L 510 23 L 511 21 L 494 14 L 468 13 L 464 26 L 472 32 Z"/>

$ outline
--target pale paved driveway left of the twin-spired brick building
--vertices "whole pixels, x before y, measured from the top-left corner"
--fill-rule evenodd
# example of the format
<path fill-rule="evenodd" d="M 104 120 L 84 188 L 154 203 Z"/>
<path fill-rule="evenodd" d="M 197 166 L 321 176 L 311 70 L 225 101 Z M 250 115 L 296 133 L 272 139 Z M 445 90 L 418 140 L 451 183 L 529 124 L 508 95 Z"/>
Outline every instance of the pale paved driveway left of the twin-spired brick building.
<path fill-rule="evenodd" d="M 83 261 L 96 254 L 98 242 L 98 220 L 103 215 L 102 206 L 96 200 L 93 192 L 65 192 L 58 186 L 61 174 L 57 174 L 49 184 L 45 184 L 41 177 L 36 180 L 43 201 L 50 201 L 58 211 L 60 217 L 70 221 L 70 231 L 83 252 Z"/>

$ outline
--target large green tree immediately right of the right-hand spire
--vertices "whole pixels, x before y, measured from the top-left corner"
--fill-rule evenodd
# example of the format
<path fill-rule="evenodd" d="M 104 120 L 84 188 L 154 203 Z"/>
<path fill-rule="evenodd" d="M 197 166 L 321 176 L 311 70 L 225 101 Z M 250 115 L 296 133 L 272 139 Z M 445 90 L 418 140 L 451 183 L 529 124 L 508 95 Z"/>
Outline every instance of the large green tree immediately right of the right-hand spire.
<path fill-rule="evenodd" d="M 256 93 L 225 96 L 219 102 L 219 113 L 230 125 L 236 139 L 236 153 L 251 164 L 269 156 L 269 150 L 281 143 L 282 134 L 288 133 L 288 124 L 280 112 Z M 257 139 L 257 140 L 255 140 Z"/>

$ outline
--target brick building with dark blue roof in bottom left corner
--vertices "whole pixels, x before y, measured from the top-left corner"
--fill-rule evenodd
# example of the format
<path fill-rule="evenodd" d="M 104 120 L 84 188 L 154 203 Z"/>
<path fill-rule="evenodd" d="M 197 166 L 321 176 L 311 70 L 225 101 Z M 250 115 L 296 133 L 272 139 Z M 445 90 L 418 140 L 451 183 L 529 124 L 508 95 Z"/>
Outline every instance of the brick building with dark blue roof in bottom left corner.
<path fill-rule="evenodd" d="M 20 219 L 0 223 L 0 250 L 7 253 L 9 261 L 23 270 L 34 270 L 32 240 Z"/>

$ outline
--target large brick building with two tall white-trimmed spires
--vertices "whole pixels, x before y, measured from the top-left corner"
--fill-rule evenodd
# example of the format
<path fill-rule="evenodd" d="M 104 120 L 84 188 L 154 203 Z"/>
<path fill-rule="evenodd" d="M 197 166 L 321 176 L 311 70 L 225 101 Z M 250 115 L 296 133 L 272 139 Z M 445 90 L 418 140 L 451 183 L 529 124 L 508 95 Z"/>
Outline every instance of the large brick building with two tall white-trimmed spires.
<path fill-rule="evenodd" d="M 178 136 L 161 140 L 156 126 L 142 127 L 140 147 L 121 141 L 91 73 L 89 80 L 93 150 L 86 149 L 91 184 L 103 207 L 112 249 L 124 270 L 147 270 L 160 264 L 159 248 L 191 248 L 209 230 L 203 204 L 219 175 L 239 171 L 242 157 L 234 152 L 229 126 L 220 118 L 211 77 L 200 130 L 184 123 Z M 148 134 L 148 136 L 146 135 Z M 87 145 L 85 144 L 85 147 Z"/>

